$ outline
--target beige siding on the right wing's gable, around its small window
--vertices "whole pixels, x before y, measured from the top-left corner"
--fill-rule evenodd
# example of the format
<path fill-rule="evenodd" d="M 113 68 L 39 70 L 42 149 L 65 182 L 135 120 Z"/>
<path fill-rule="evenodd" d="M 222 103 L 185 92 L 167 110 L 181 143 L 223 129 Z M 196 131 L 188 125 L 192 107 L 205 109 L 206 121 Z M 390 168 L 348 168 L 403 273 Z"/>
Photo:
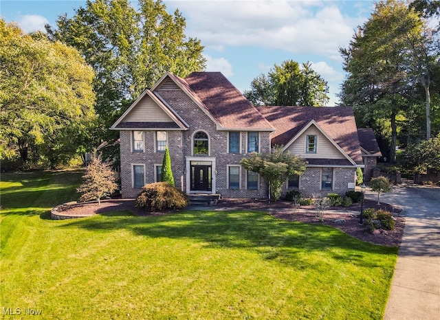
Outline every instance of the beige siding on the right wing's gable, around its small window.
<path fill-rule="evenodd" d="M 307 153 L 307 135 L 316 135 L 318 146 L 316 153 Z M 311 125 L 298 137 L 287 149 L 293 155 L 300 155 L 307 159 L 346 159 L 344 155 L 334 146 L 316 126 Z"/>

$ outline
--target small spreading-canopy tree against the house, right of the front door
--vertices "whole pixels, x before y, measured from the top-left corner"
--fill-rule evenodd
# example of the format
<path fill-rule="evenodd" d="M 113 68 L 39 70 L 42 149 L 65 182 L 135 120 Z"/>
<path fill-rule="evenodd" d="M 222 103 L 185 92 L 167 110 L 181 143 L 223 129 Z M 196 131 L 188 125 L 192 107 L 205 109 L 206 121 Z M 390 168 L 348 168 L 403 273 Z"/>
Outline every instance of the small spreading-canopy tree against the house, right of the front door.
<path fill-rule="evenodd" d="M 283 152 L 283 148 L 272 148 L 272 153 L 252 152 L 241 160 L 248 171 L 256 172 L 269 184 L 270 196 L 274 201 L 281 197 L 281 187 L 289 176 L 300 176 L 305 172 L 306 162 L 296 155 Z"/>

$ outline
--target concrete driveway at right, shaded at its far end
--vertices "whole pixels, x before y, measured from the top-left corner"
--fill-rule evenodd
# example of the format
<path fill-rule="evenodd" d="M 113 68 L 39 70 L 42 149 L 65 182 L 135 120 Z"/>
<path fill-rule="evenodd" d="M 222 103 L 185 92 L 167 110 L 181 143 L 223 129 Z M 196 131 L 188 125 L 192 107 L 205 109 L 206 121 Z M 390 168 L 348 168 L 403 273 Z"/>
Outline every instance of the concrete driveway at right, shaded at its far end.
<path fill-rule="evenodd" d="M 366 198 L 377 193 L 366 191 Z M 406 223 L 384 319 L 440 319 L 440 188 L 395 187 L 380 201 L 403 208 Z"/>

